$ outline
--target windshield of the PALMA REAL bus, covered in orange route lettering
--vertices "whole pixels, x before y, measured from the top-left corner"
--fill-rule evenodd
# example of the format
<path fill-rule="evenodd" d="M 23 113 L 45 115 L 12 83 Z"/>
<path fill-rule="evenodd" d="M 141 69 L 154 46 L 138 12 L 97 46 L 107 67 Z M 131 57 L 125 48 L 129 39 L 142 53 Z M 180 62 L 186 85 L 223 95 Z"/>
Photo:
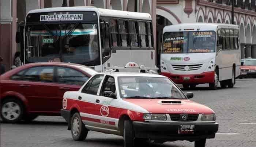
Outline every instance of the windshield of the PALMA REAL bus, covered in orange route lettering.
<path fill-rule="evenodd" d="M 214 31 L 165 32 L 162 53 L 215 52 Z"/>

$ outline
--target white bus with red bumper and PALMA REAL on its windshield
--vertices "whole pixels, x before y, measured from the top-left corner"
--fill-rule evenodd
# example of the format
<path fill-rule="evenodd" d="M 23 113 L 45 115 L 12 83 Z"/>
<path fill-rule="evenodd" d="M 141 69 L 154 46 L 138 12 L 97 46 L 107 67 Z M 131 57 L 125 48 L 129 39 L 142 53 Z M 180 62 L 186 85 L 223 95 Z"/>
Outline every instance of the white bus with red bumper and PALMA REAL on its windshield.
<path fill-rule="evenodd" d="M 184 88 L 232 88 L 240 75 L 238 26 L 191 23 L 163 28 L 161 74 Z"/>

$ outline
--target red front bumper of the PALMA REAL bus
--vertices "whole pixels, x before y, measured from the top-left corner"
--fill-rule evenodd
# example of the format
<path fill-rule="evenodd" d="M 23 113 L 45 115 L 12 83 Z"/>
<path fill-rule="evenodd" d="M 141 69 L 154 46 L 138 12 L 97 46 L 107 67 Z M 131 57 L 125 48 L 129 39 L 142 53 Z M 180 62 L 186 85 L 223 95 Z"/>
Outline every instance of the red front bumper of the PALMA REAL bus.
<path fill-rule="evenodd" d="M 161 72 L 161 75 L 170 78 L 176 84 L 204 84 L 214 82 L 214 71 L 201 74 L 172 74 Z"/>

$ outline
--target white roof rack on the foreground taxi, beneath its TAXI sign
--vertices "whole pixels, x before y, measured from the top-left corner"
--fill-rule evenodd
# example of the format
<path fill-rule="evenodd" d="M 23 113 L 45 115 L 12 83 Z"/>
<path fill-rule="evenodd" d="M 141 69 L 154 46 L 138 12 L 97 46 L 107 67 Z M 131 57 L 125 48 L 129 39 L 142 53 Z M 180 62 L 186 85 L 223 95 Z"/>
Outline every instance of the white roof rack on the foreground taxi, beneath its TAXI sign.
<path fill-rule="evenodd" d="M 139 70 L 140 73 L 153 73 L 153 74 L 158 74 L 157 70 L 159 68 L 157 67 L 105 67 L 106 70 L 105 72 L 119 72 L 119 69 L 125 69 L 125 70 Z"/>

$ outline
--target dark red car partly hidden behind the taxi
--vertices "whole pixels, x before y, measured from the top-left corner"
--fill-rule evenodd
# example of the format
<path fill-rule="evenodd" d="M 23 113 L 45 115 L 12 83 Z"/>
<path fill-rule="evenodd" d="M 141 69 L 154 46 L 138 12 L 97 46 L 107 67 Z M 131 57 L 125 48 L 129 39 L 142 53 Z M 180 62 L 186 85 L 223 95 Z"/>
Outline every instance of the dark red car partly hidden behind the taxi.
<path fill-rule="evenodd" d="M 79 88 L 97 71 L 72 63 L 31 63 L 1 75 L 4 122 L 60 116 L 63 94 Z"/>

